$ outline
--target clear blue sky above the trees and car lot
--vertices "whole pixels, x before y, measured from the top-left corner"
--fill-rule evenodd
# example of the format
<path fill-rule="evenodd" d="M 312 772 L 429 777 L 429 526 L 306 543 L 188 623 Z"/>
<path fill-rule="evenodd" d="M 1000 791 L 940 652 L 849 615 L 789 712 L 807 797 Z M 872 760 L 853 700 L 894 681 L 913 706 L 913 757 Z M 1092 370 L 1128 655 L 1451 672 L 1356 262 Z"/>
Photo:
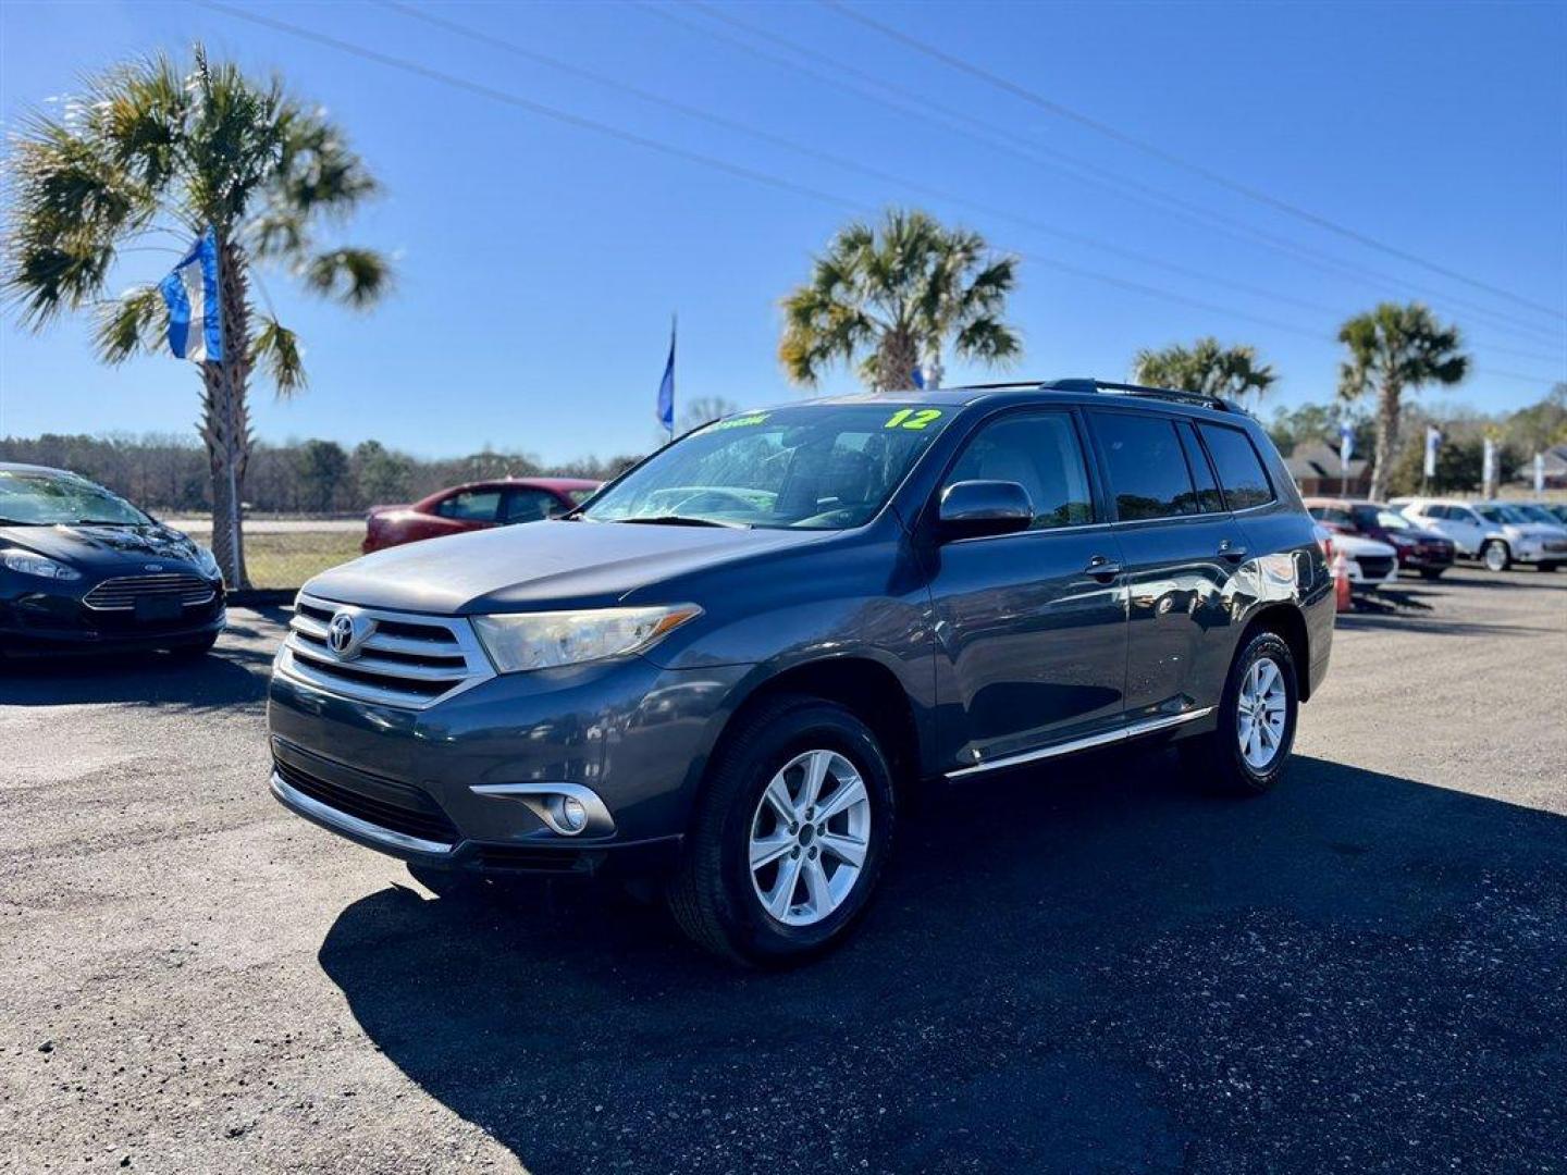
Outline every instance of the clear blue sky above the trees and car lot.
<path fill-rule="evenodd" d="M 215 55 L 280 70 L 298 94 L 326 105 L 385 182 L 385 197 L 342 240 L 398 255 L 392 301 L 356 315 L 298 296 L 285 274 L 263 274 L 279 316 L 306 342 L 312 379 L 288 403 L 255 387 L 254 421 L 265 439 L 378 437 L 428 456 L 489 443 L 552 461 L 636 451 L 657 436 L 653 396 L 672 310 L 682 400 L 793 398 L 799 392 L 774 359 L 777 299 L 854 207 L 885 204 L 925 207 L 1023 255 L 1011 306 L 1026 338 L 1020 374 L 1124 378 L 1139 346 L 1216 334 L 1254 343 L 1274 363 L 1276 403 L 1323 400 L 1334 389 L 1338 323 L 1402 293 L 1465 327 L 1476 374 L 1451 398 L 1515 407 L 1567 378 L 1562 5 L 859 9 L 1213 172 L 1556 307 L 1551 315 L 1261 207 L 816 3 L 721 11 L 923 92 L 993 127 L 986 133 L 1011 150 L 953 130 L 943 116 L 915 118 L 747 53 L 700 31 L 746 36 L 732 25 L 661 0 L 431 9 L 481 30 L 486 44 L 378 5 L 233 2 L 832 197 L 564 125 L 201 6 L 0 6 L 8 125 L 72 92 L 83 72 L 157 49 L 177 53 L 201 38 Z M 595 86 L 498 41 L 816 155 Z M 773 42 L 765 52 L 790 50 Z M 1042 164 L 1036 152 L 1097 168 L 1100 179 Z M 821 155 L 849 157 L 887 179 Z M 1230 227 L 1167 212 L 1164 197 Z M 1244 233 L 1283 240 L 1293 252 Z M 116 288 L 157 279 L 172 260 L 127 255 Z M 981 373 L 948 362 L 948 382 L 970 374 Z M 852 382 L 838 371 L 823 390 Z M 174 359 L 99 367 L 80 321 L 41 337 L 13 318 L 0 323 L 0 436 L 186 431 L 196 392 L 193 371 Z"/>

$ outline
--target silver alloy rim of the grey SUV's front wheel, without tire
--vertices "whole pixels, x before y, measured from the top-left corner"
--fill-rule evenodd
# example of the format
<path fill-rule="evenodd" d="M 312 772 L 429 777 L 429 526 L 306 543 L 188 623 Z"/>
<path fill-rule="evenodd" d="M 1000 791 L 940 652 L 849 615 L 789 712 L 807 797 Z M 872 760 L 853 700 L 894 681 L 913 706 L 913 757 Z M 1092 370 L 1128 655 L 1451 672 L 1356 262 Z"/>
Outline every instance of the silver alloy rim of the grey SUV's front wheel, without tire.
<path fill-rule="evenodd" d="M 796 755 L 768 782 L 751 818 L 747 868 L 763 909 L 812 926 L 854 890 L 870 851 L 865 780 L 837 750 Z"/>

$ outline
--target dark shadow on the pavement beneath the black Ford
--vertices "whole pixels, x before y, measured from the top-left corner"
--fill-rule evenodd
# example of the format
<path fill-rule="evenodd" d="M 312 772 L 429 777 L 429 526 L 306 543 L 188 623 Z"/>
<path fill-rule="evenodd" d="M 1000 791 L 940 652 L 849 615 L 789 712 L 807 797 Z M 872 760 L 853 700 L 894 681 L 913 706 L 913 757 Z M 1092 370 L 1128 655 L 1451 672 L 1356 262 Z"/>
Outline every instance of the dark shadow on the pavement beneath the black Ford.
<path fill-rule="evenodd" d="M 282 608 L 230 613 L 218 649 L 179 658 L 160 652 L 0 660 L 0 705 L 122 703 L 215 710 L 266 699 Z"/>

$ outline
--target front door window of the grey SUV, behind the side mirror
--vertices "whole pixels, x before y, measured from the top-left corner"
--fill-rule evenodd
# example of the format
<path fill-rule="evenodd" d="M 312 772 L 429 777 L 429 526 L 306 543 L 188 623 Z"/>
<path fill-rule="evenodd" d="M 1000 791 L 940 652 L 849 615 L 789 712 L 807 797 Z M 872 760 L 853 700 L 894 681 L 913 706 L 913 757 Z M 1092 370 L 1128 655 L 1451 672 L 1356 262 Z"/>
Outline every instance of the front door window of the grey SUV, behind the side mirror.
<path fill-rule="evenodd" d="M 946 476 L 948 486 L 954 481 L 1019 483 L 1034 503 L 1036 530 L 1094 520 L 1087 465 L 1066 412 L 1011 415 L 981 426 Z"/>

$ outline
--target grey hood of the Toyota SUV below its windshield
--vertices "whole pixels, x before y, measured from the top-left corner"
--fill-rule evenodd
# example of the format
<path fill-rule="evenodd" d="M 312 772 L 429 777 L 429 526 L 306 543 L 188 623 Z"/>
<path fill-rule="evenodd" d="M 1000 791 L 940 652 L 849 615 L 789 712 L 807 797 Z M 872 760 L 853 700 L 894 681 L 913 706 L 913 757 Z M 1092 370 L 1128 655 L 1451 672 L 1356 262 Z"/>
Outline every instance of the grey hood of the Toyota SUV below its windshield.
<path fill-rule="evenodd" d="M 675 575 L 834 534 L 547 520 L 392 547 L 323 572 L 304 591 L 442 616 L 606 606 Z"/>

